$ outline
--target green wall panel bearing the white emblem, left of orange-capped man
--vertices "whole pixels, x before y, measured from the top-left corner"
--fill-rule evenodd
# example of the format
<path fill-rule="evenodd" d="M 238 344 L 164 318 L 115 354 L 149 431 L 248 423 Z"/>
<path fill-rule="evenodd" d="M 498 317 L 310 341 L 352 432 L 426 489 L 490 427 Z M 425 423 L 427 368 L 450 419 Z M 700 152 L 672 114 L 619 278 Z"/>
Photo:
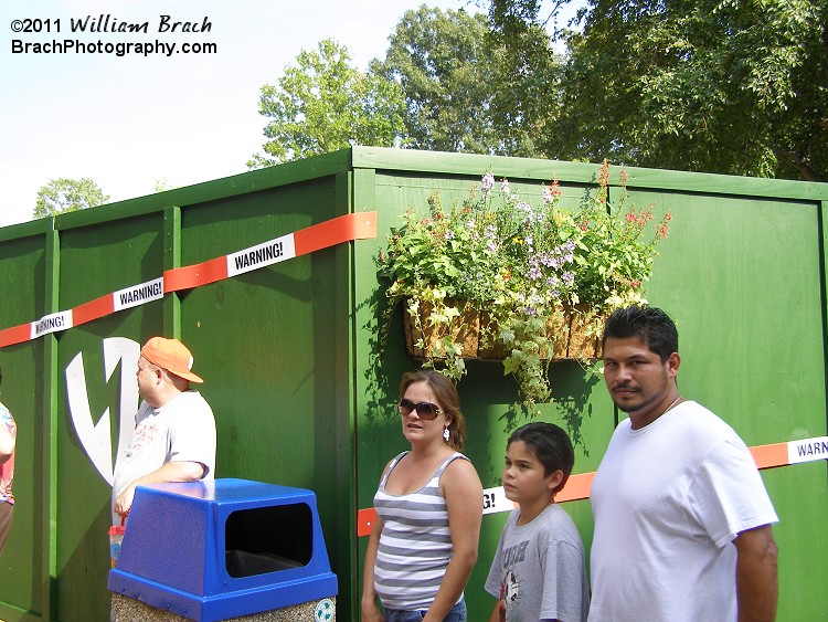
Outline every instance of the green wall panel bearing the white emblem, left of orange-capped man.
<path fill-rule="evenodd" d="M 161 276 L 161 226 L 162 214 L 157 213 L 62 231 L 60 308 L 73 308 Z M 104 620 L 109 614 L 106 582 L 112 486 L 92 462 L 92 440 L 88 434 L 82 437 L 73 421 L 66 370 L 73 361 L 78 362 L 76 357 L 82 357 L 92 423 L 106 425 L 108 409 L 114 456 L 120 417 L 131 418 L 138 405 L 136 401 L 128 409 L 131 412 L 121 413 L 121 391 L 127 386 L 135 387 L 134 372 L 126 371 L 135 360 L 130 357 L 118 362 L 107 375 L 105 340 L 121 337 L 142 344 L 159 334 L 161 326 L 162 303 L 152 302 L 84 324 L 59 338 L 56 619 L 76 619 L 78 611 L 84 611 L 88 620 Z M 82 419 L 79 413 L 75 417 Z"/>

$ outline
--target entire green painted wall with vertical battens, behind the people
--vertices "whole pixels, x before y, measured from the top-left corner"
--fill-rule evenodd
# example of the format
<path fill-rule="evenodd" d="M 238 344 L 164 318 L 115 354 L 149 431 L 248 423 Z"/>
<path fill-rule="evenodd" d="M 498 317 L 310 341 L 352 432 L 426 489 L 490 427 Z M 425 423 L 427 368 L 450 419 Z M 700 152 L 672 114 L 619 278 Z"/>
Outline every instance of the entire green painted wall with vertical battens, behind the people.
<path fill-rule="evenodd" d="M 353 148 L 195 187 L 0 230 L 0 329 L 65 310 L 349 212 L 376 211 L 379 235 L 190 291 L 64 333 L 0 349 L 2 400 L 19 423 L 15 521 L 0 558 L 0 618 L 107 620 L 109 486 L 67 404 L 65 370 L 83 355 L 94 422 L 106 409 L 117 444 L 121 361 L 107 380 L 103 344 L 180 337 L 216 415 L 219 477 L 311 488 L 333 571 L 338 615 L 357 620 L 370 508 L 380 472 L 405 449 L 393 402 L 403 371 L 401 314 L 380 344 L 385 299 L 374 257 L 406 208 L 467 196 L 491 170 L 524 198 L 556 177 L 577 205 L 595 165 Z M 681 391 L 733 424 L 749 445 L 826 434 L 825 185 L 630 169 L 636 203 L 672 213 L 648 298 L 679 325 Z M 526 421 L 498 363 L 471 361 L 459 392 L 467 454 L 499 485 L 508 434 Z M 543 418 L 577 439 L 576 473 L 595 471 L 616 424 L 603 381 L 552 368 Z M 131 413 L 130 413 L 131 414 Z M 828 609 L 826 464 L 763 478 L 781 517 L 779 620 Z M 586 500 L 564 506 L 585 545 Z M 488 615 L 482 583 L 505 514 L 484 517 L 470 619 Z M 266 526 L 263 526 L 266 528 Z"/>

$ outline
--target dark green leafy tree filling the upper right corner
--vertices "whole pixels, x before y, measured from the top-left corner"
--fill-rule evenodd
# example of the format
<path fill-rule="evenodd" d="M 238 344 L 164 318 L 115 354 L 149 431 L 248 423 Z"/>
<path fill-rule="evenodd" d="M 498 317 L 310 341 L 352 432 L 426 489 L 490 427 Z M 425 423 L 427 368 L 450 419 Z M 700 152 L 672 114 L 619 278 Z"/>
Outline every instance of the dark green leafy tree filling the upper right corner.
<path fill-rule="evenodd" d="M 492 28 L 540 11 L 491 0 Z M 826 0 L 587 0 L 581 17 L 550 157 L 828 179 Z"/>

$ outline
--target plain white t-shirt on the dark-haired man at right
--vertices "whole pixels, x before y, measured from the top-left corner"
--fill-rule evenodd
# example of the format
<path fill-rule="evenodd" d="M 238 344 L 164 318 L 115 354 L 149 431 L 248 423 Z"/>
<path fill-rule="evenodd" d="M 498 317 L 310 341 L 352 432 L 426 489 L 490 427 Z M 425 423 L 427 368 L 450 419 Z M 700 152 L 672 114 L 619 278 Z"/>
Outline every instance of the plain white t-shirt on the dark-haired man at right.
<path fill-rule="evenodd" d="M 735 620 L 731 542 L 778 520 L 745 444 L 696 402 L 619 423 L 590 499 L 592 622 Z"/>

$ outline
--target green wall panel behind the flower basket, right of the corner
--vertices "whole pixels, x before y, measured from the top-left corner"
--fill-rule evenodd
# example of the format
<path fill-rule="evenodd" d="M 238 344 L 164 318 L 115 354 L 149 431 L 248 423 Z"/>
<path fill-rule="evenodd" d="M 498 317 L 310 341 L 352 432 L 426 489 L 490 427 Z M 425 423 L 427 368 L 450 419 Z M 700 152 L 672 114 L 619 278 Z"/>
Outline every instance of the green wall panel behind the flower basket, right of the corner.
<path fill-rule="evenodd" d="M 509 177 L 511 190 L 519 192 L 530 203 L 540 204 L 541 182 L 548 183 L 559 175 L 549 164 L 544 168 L 545 178 L 527 181 Z M 596 168 L 590 167 L 590 170 L 594 172 Z M 399 217 L 406 209 L 426 213 L 427 198 L 434 192 L 439 193 L 444 205 L 461 201 L 468 197 L 473 186 L 479 186 L 484 172 L 485 166 L 478 175 L 463 177 L 376 173 L 375 204 L 380 210 L 380 234 L 376 240 L 361 244 L 357 256 L 357 367 L 364 370 L 364 373 L 358 375 L 357 391 L 361 418 L 357 432 L 357 496 L 360 508 L 372 507 L 382 468 L 391 457 L 408 446 L 401 432 L 394 401 L 402 373 L 418 366 L 405 350 L 401 308 L 394 310 L 388 340 L 378 356 L 381 317 L 385 309 L 385 284 L 378 281 L 374 257 L 384 247 L 390 229 L 400 224 Z M 498 180 L 503 177 L 497 168 L 492 172 Z M 509 175 L 507 171 L 507 177 Z M 584 186 L 564 185 L 563 191 L 562 208 L 575 209 L 584 196 Z M 468 361 L 467 367 L 468 375 L 458 384 L 468 431 L 464 453 L 475 464 L 484 488 L 499 486 L 507 439 L 518 426 L 535 419 L 514 407 L 519 399 L 517 386 L 511 378 L 503 376 L 500 362 Z M 558 423 L 576 439 L 575 473 L 594 471 L 615 421 L 603 382 L 570 361 L 552 363 L 550 378 L 555 401 L 541 408 L 540 419 Z M 364 396 L 364 402 L 359 402 L 359 396 Z M 588 504 L 573 505 L 580 507 L 580 526 L 591 530 Z M 466 590 L 470 620 L 486 619 L 491 610 L 493 601 L 485 593 L 482 584 L 505 519 L 506 515 L 488 515 L 484 519 L 478 563 Z M 360 554 L 364 555 L 364 542 L 361 544 Z"/>

